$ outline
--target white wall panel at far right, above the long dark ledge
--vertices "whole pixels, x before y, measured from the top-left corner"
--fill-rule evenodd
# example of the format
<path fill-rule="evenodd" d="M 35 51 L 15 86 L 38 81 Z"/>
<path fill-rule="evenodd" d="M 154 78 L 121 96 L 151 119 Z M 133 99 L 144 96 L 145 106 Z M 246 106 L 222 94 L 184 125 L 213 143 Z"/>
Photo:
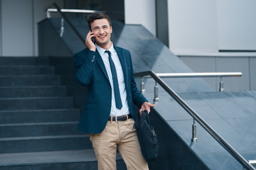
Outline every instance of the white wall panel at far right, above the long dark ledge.
<path fill-rule="evenodd" d="M 255 7 L 255 0 L 218 0 L 220 50 L 256 50 Z"/>

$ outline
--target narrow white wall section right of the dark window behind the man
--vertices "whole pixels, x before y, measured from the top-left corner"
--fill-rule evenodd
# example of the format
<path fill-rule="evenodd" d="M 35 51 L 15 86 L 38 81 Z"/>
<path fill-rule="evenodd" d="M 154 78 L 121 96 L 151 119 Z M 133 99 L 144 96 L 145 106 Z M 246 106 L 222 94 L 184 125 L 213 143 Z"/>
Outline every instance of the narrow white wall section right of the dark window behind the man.
<path fill-rule="evenodd" d="M 155 0 L 124 0 L 124 17 L 126 24 L 142 24 L 156 35 Z"/>

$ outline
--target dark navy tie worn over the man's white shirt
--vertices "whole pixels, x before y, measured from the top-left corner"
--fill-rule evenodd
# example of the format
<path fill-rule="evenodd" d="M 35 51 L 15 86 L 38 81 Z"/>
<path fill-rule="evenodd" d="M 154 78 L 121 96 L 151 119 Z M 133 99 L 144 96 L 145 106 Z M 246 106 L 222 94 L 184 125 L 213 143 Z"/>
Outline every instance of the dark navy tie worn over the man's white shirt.
<path fill-rule="evenodd" d="M 117 71 L 114 67 L 114 62 L 113 62 L 112 57 L 111 57 L 111 52 L 108 51 L 108 50 L 106 50 L 105 52 L 107 52 L 108 55 L 109 55 L 110 69 L 111 69 L 111 72 L 112 72 L 112 79 L 113 79 L 113 86 L 114 86 L 114 99 L 116 101 L 116 107 L 118 109 L 121 109 L 122 108 L 122 100 L 121 100 L 121 97 L 120 97 L 119 85 L 118 85 L 118 80 L 117 80 Z"/>

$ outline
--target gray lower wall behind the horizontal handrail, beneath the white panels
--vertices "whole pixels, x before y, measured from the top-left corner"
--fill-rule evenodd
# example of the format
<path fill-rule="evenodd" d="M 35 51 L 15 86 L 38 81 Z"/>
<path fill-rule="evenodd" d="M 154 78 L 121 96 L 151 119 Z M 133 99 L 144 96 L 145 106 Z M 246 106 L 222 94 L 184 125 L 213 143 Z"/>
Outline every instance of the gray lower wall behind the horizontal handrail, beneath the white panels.
<path fill-rule="evenodd" d="M 250 54 L 248 54 L 250 55 Z M 223 77 L 224 91 L 256 90 L 256 56 L 179 56 L 194 72 L 242 72 L 242 77 Z M 191 78 L 193 79 L 193 78 Z M 220 78 L 203 78 L 216 91 Z"/>

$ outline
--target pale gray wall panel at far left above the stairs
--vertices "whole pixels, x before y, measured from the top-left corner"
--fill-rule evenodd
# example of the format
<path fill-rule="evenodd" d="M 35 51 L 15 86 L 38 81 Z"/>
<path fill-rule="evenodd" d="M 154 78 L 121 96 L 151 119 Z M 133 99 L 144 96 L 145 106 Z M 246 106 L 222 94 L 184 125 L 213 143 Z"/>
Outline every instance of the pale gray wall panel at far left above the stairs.
<path fill-rule="evenodd" d="M 2 0 L 2 55 L 33 55 L 32 0 Z"/>

